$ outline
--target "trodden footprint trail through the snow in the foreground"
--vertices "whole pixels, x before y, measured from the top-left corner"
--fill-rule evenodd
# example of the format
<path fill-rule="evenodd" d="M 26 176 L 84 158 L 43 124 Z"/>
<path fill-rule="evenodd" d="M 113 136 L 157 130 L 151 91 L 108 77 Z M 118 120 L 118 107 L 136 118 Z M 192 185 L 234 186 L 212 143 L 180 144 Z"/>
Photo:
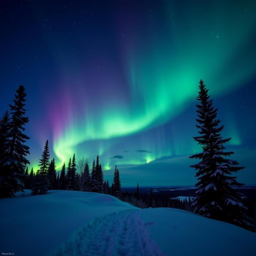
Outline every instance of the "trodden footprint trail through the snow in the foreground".
<path fill-rule="evenodd" d="M 153 224 L 140 219 L 140 210 L 114 212 L 76 231 L 53 255 L 164 255 L 148 236 Z"/>

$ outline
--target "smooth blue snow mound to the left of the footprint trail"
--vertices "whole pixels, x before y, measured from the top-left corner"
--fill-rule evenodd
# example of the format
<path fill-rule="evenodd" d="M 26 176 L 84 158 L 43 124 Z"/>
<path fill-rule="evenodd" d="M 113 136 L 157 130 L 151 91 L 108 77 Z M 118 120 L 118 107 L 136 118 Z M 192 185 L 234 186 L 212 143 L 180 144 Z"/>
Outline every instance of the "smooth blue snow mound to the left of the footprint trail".
<path fill-rule="evenodd" d="M 45 256 L 79 228 L 109 213 L 137 209 L 99 193 L 50 190 L 47 195 L 0 199 L 2 252 Z M 18 195 L 20 196 L 20 195 Z"/>

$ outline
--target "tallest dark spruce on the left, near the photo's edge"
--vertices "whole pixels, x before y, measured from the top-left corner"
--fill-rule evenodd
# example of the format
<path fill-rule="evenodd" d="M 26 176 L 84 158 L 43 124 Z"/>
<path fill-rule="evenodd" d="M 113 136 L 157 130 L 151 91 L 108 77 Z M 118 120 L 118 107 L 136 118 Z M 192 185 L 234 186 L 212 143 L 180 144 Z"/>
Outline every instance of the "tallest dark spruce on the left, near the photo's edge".
<path fill-rule="evenodd" d="M 4 155 L 0 158 L 0 196 L 12 196 L 16 192 L 24 192 L 22 182 L 25 176 L 25 167 L 30 164 L 26 156 L 29 154 L 29 147 L 24 143 L 29 139 L 23 132 L 24 125 L 28 123 L 25 117 L 25 88 L 20 85 L 16 90 L 14 105 L 11 108 L 11 122 L 9 134 L 5 134 Z"/>

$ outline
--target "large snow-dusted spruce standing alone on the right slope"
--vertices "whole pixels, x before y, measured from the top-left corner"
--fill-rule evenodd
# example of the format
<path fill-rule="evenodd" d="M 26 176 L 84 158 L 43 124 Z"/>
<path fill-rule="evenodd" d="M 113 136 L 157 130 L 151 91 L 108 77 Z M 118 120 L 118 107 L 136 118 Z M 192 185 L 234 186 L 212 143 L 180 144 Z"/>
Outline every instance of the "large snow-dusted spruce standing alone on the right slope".
<path fill-rule="evenodd" d="M 226 159 L 234 152 L 224 151 L 223 144 L 231 138 L 223 139 L 220 132 L 224 125 L 217 119 L 217 108 L 212 106 L 208 89 L 202 80 L 199 82 L 199 94 L 196 98 L 200 103 L 196 105 L 197 125 L 200 136 L 193 137 L 203 152 L 190 156 L 199 159 L 198 164 L 193 164 L 197 170 L 198 182 L 196 197 L 192 206 L 194 212 L 203 216 L 226 221 L 244 228 L 252 227 L 250 219 L 245 215 L 247 208 L 243 204 L 243 194 L 236 192 L 232 187 L 242 187 L 244 184 L 230 176 L 233 172 L 244 169 L 237 166 L 235 160 Z"/>

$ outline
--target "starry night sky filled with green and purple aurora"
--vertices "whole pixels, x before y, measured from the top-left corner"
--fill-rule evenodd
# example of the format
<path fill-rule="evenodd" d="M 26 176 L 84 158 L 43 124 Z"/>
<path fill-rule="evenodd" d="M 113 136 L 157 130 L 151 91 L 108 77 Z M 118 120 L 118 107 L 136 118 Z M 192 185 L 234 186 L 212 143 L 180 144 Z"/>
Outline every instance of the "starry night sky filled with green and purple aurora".
<path fill-rule="evenodd" d="M 123 186 L 191 185 L 197 85 L 256 184 L 255 1 L 1 1 L 0 113 L 23 84 L 28 159 L 99 154 Z"/>

